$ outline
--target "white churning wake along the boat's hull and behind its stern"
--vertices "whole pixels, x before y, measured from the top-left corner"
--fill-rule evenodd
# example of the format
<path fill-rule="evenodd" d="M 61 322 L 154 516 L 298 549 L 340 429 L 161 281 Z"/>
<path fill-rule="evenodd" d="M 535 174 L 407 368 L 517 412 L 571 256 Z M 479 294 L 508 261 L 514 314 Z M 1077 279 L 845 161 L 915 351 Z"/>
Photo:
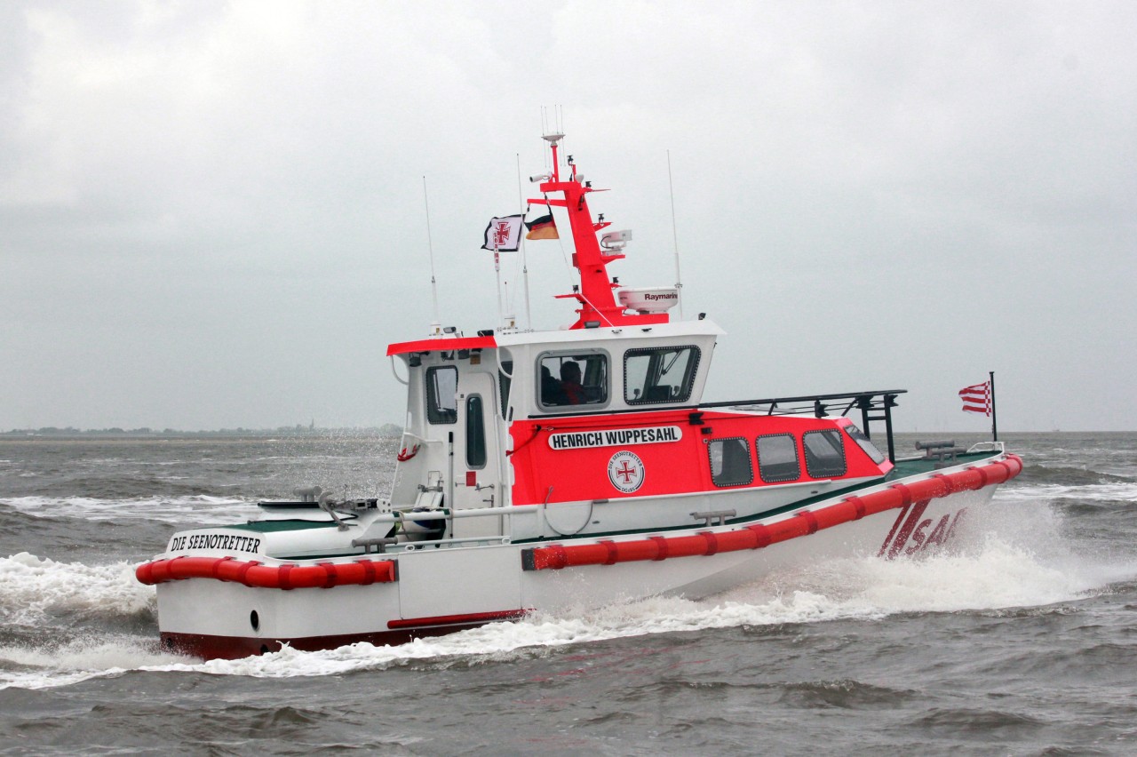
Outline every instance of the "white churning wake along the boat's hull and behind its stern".
<path fill-rule="evenodd" d="M 1047 546 L 1053 544 L 1043 544 Z M 5 575 L 20 580 L 6 583 Z M 1137 565 L 1095 564 L 1061 549 L 1039 552 L 987 536 L 970 554 L 932 555 L 921 560 L 832 560 L 772 574 L 700 601 L 654 598 L 579 614 L 534 614 L 396 647 L 356 643 L 316 652 L 283 649 L 262 657 L 201 663 L 161 654 L 153 638 L 144 637 L 81 640 L 61 654 L 0 646 L 0 688 L 68 685 L 124 671 L 326 676 L 417 663 L 507 662 L 570 644 L 644 634 L 838 619 L 887 622 L 898 614 L 990 613 L 1022 607 L 1069 613 L 1077 612 L 1072 605 L 1078 600 L 1135 576 Z M 51 608 L 82 612 L 109 606 L 118 613 L 140 613 L 152 602 L 152 590 L 134 583 L 125 564 L 89 567 L 17 555 L 0 561 L 0 600 L 6 606 L 23 606 L 25 619 Z"/>

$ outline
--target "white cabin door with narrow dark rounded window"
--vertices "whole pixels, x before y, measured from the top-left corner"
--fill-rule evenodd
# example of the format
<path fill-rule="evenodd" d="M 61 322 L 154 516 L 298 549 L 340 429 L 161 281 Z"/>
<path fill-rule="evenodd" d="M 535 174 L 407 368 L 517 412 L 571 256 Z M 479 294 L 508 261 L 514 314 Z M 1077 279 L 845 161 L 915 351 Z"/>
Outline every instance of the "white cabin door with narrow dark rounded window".
<path fill-rule="evenodd" d="M 473 509 L 501 504 L 498 393 L 495 376 L 463 373 L 458 378 L 458 433 L 454 449 L 454 507 Z M 455 518 L 454 536 L 501 534 L 501 517 Z"/>

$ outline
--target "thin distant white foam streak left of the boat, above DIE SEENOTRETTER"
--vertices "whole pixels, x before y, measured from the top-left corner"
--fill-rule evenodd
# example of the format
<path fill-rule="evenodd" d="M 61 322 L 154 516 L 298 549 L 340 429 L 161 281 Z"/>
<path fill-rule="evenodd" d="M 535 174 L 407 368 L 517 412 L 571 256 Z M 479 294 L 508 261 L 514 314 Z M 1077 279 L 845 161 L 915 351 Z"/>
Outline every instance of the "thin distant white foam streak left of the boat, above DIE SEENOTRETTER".
<path fill-rule="evenodd" d="M 138 499 L 97 499 L 92 497 L 9 497 L 0 507 L 43 518 L 83 518 L 86 521 L 160 521 L 171 524 L 223 525 L 256 518 L 260 508 L 255 501 L 234 497 L 146 497 Z"/>

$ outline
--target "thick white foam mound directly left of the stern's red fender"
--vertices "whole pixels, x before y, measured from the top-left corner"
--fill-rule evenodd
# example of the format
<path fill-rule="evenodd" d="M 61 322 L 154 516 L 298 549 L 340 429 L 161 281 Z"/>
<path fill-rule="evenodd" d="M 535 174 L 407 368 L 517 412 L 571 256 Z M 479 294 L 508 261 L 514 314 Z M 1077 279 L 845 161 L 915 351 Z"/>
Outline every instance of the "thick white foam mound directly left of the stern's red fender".
<path fill-rule="evenodd" d="M 148 612 L 155 590 L 134 577 L 134 566 L 56 563 L 19 552 L 0 557 L 0 618 L 35 625 L 48 615 L 117 617 Z"/>

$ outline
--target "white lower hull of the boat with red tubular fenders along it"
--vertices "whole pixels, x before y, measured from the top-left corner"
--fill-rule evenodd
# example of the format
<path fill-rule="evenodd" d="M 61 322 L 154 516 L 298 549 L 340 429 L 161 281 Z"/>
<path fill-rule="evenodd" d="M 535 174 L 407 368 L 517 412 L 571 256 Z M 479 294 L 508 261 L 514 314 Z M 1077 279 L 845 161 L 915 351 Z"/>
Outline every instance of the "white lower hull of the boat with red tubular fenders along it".
<path fill-rule="evenodd" d="M 140 566 L 139 576 L 158 584 L 163 643 L 186 654 L 236 658 L 285 643 L 302 650 L 401 643 L 532 610 L 574 612 L 658 594 L 696 599 L 819 560 L 939 549 L 965 513 L 987 506 L 998 483 L 1021 468 L 1018 457 L 999 454 L 745 526 L 374 555 L 367 561 L 390 569 L 372 571 L 370 583 L 285 588 L 277 577 L 276 587 L 246 585 L 238 574 L 244 569 L 248 579 L 244 566 L 256 560 L 208 548 L 159 557 Z M 279 576 L 288 567 L 310 584 L 300 571 L 358 561 L 265 559 L 254 569 Z M 213 577 L 217 565 L 226 566 L 226 577 Z M 186 574 L 194 577 L 176 577 Z M 266 583 L 265 575 L 256 581 Z"/>

